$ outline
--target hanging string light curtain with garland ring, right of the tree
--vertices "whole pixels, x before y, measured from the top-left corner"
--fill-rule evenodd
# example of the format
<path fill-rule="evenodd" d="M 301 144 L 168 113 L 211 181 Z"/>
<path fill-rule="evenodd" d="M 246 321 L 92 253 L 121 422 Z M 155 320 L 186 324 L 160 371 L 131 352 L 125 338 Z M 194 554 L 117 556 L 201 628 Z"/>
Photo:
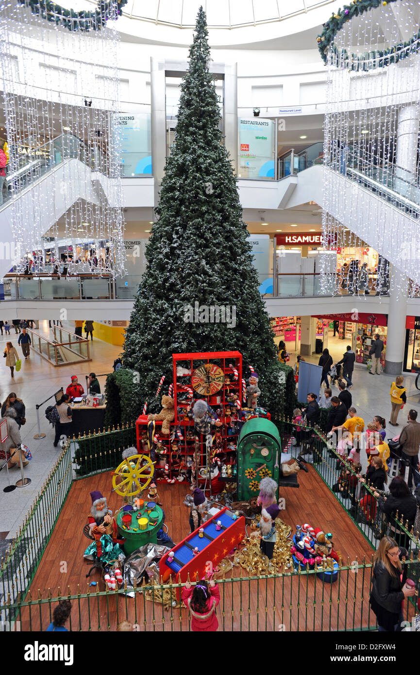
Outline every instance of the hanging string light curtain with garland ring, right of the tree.
<path fill-rule="evenodd" d="M 390 263 L 420 284 L 419 18 L 418 2 L 358 0 L 319 36 L 327 63 L 323 292 L 388 292 Z M 367 256 L 357 259 L 369 245 L 379 252 L 370 267 Z M 349 274 L 347 265 L 337 270 L 334 251 L 350 247 Z"/>

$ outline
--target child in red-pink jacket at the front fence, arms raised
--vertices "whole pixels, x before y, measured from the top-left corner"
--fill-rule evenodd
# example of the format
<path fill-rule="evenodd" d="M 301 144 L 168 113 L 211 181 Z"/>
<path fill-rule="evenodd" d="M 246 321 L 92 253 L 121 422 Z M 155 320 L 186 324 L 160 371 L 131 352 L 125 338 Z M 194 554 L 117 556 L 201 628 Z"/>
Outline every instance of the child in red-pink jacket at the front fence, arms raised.
<path fill-rule="evenodd" d="M 191 630 L 214 632 L 219 626 L 216 616 L 216 607 L 220 602 L 219 587 L 212 580 L 200 581 L 194 589 L 186 583 L 182 589 L 182 599 L 191 613 Z"/>

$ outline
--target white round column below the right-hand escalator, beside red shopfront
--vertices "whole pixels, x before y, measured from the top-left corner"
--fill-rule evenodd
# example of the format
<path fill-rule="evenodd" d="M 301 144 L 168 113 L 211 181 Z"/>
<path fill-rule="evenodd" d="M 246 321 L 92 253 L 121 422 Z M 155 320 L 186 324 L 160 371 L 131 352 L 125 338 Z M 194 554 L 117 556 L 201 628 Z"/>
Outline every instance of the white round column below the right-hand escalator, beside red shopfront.
<path fill-rule="evenodd" d="M 386 334 L 385 372 L 388 375 L 400 375 L 402 373 L 402 361 L 404 360 L 409 279 L 395 267 L 392 267 L 391 271 L 391 286 L 388 331 Z M 380 329 L 377 332 L 380 333 Z"/>

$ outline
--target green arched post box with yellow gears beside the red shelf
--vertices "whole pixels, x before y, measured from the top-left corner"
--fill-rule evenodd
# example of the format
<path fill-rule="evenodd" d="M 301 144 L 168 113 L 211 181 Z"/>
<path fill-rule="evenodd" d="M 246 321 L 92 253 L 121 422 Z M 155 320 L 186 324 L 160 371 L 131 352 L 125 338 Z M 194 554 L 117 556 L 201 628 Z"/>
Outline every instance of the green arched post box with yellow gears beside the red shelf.
<path fill-rule="evenodd" d="M 259 482 L 269 476 L 279 482 L 282 446 L 278 428 L 264 417 L 244 424 L 238 439 L 238 499 L 252 499 Z"/>

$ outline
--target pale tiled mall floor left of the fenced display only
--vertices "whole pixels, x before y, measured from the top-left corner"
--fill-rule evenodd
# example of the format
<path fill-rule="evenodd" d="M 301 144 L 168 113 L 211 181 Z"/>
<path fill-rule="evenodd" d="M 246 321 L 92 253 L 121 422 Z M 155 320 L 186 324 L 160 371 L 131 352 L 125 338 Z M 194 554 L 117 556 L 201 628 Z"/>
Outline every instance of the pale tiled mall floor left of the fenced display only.
<path fill-rule="evenodd" d="M 63 321 L 63 327 L 73 330 L 72 325 L 66 325 Z M 51 335 L 48 321 L 42 321 L 37 332 L 43 335 Z M 10 336 L 0 335 L 0 350 L 4 351 L 7 340 L 11 340 L 18 352 L 18 335 L 14 329 L 10 331 Z M 19 398 L 22 398 L 26 406 L 26 425 L 20 429 L 22 441 L 28 445 L 32 452 L 32 460 L 24 468 L 24 475 L 31 479 L 28 487 L 16 488 L 13 492 L 5 493 L 3 488 L 8 484 L 7 469 L 0 472 L 0 532 L 8 532 L 8 537 L 12 537 L 19 529 L 24 515 L 28 512 L 38 491 L 41 489 L 49 469 L 59 454 L 59 448 L 53 447 L 54 431 L 45 418 L 45 408 L 53 404 L 54 399 L 47 402 L 39 410 L 41 423 L 41 432 L 47 436 L 41 440 L 34 439 L 38 433 L 36 425 L 36 404 L 42 403 L 46 398 L 54 394 L 55 391 L 70 384 L 70 376 L 78 375 L 79 382 L 85 387 L 85 375 L 94 371 L 97 374 L 111 373 L 114 359 L 120 354 L 122 348 L 112 346 L 107 342 L 95 340 L 93 333 L 93 342 L 90 342 L 90 356 L 92 358 L 88 363 L 81 366 L 61 366 L 53 367 L 38 354 L 31 350 L 30 358 L 22 360 L 22 369 L 15 373 L 14 379 L 11 379 L 10 369 L 0 364 L 0 396 L 1 402 L 7 398 L 11 391 L 15 391 Z M 2 358 L 3 360 L 3 358 Z M 100 377 L 101 390 L 105 388 L 105 377 Z M 20 478 L 20 469 L 11 468 L 9 470 L 9 479 L 11 485 L 14 485 Z"/>

